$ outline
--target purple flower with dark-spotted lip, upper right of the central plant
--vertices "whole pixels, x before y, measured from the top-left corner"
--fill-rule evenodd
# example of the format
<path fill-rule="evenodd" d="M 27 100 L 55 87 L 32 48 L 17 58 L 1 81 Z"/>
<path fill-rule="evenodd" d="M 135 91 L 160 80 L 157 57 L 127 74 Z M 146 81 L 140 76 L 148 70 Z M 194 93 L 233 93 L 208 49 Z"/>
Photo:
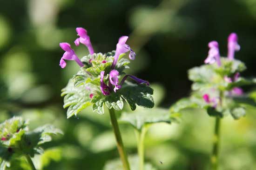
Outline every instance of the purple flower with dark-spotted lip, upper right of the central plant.
<path fill-rule="evenodd" d="M 132 59 L 134 60 L 135 59 L 135 52 L 131 49 L 130 46 L 128 46 L 126 43 L 128 39 L 128 36 L 121 36 L 118 40 L 118 43 L 116 44 L 116 50 L 115 50 L 115 57 L 114 57 L 114 61 L 112 63 L 112 66 L 111 68 L 114 69 L 115 68 L 115 65 L 117 63 L 117 60 L 119 58 L 119 55 L 121 53 L 125 53 L 125 52 L 128 52 L 130 51 L 130 54 L 129 54 L 129 59 Z"/>

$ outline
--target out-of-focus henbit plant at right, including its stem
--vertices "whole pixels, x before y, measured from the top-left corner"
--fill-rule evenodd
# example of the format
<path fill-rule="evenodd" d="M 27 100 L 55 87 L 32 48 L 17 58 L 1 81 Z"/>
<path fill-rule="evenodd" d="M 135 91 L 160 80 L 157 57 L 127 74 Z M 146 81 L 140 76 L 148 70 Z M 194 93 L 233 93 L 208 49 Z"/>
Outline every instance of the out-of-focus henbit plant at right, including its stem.
<path fill-rule="evenodd" d="M 170 109 L 171 112 L 179 112 L 185 108 L 202 108 L 209 116 L 216 118 L 210 158 L 212 170 L 218 169 L 221 118 L 231 115 L 239 119 L 245 116 L 249 107 L 255 106 L 255 101 L 240 88 L 256 84 L 256 79 L 240 76 L 246 66 L 234 59 L 234 53 L 240 49 L 237 40 L 236 33 L 229 35 L 227 58 L 220 57 L 216 41 L 209 42 L 205 65 L 189 70 L 189 79 L 193 81 L 191 96 L 179 100 Z"/>

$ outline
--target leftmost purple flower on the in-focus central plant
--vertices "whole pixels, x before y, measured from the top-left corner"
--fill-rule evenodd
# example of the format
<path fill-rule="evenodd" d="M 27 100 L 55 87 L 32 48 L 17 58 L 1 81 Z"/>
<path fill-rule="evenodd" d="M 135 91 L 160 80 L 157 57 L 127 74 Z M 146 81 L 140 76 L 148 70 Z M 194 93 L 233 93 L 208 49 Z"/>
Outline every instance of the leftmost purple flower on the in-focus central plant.
<path fill-rule="evenodd" d="M 84 66 L 81 60 L 75 55 L 74 50 L 71 48 L 70 44 L 64 42 L 60 43 L 60 46 L 65 51 L 60 61 L 61 68 L 64 68 L 67 65 L 64 59 L 75 60 L 78 65 L 80 65 L 81 67 Z"/>

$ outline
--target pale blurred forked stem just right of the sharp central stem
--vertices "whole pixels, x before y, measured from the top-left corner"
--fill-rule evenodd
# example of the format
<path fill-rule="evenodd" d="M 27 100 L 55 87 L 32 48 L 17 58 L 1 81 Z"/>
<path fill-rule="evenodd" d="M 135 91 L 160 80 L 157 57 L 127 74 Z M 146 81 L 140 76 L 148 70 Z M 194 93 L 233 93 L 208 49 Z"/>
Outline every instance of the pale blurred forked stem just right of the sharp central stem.
<path fill-rule="evenodd" d="M 138 155 L 140 159 L 139 170 L 144 170 L 144 138 L 147 130 L 148 130 L 147 127 L 142 127 L 141 131 L 135 130 L 135 135 L 137 138 Z"/>

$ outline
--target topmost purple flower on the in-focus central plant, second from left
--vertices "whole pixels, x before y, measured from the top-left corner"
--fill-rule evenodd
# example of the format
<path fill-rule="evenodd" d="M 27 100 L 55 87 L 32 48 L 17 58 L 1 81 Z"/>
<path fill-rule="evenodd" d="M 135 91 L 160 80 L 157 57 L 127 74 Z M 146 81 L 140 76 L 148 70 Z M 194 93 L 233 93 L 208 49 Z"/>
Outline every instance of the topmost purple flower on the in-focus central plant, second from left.
<path fill-rule="evenodd" d="M 77 27 L 75 30 L 77 32 L 77 35 L 79 35 L 80 37 L 74 41 L 74 44 L 76 46 L 79 46 L 80 43 L 84 44 L 85 46 L 87 46 L 90 54 L 93 54 L 94 49 L 93 49 L 92 43 L 90 41 L 90 37 L 88 36 L 86 29 Z"/>

